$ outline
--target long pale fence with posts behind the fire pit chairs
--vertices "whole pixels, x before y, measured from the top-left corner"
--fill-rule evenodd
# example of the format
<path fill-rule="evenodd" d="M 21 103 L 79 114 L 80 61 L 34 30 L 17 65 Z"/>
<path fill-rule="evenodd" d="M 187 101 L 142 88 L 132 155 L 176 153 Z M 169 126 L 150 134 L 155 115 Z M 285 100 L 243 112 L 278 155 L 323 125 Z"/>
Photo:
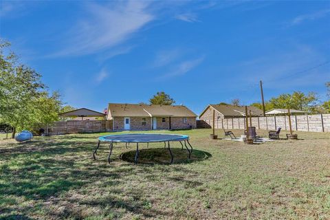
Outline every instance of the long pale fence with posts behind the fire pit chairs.
<path fill-rule="evenodd" d="M 250 122 L 250 120 L 249 120 Z M 292 115 L 292 130 L 330 132 L 330 114 Z M 212 128 L 212 120 L 197 121 L 197 128 Z M 256 129 L 276 130 L 281 127 L 289 131 L 289 116 L 252 117 Z M 245 118 L 224 118 L 214 120 L 215 129 L 245 129 Z"/>

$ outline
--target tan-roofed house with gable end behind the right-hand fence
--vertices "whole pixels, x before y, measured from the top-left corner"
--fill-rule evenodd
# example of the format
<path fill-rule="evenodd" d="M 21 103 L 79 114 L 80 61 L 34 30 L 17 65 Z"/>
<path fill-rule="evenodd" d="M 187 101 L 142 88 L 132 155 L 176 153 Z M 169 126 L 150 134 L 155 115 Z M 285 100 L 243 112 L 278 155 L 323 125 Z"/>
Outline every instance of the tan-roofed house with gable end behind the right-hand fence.
<path fill-rule="evenodd" d="M 245 107 L 234 106 L 231 104 L 209 104 L 206 109 L 204 109 L 199 115 L 199 119 L 205 122 L 210 122 L 213 120 L 213 110 L 214 119 L 220 120 L 224 118 L 240 118 L 245 117 Z M 249 106 L 248 114 L 250 116 L 262 116 L 263 111 L 256 107 Z"/>

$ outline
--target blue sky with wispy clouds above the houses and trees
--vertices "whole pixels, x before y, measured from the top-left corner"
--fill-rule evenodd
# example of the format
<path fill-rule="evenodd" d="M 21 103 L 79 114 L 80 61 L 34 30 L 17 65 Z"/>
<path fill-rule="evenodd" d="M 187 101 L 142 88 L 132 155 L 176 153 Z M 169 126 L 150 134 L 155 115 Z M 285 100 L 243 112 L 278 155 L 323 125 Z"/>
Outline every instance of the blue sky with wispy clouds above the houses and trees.
<path fill-rule="evenodd" d="M 1 1 L 0 36 L 74 107 L 165 91 L 199 114 L 292 91 L 325 100 L 330 1 Z"/>

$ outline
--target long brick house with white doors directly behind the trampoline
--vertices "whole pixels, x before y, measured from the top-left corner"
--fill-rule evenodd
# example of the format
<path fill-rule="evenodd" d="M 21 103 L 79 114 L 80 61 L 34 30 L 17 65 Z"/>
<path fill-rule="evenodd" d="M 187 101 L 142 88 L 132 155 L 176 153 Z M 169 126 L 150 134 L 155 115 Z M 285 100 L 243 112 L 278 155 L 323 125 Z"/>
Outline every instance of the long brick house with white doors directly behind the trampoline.
<path fill-rule="evenodd" d="M 197 115 L 182 105 L 109 103 L 113 131 L 195 129 Z"/>

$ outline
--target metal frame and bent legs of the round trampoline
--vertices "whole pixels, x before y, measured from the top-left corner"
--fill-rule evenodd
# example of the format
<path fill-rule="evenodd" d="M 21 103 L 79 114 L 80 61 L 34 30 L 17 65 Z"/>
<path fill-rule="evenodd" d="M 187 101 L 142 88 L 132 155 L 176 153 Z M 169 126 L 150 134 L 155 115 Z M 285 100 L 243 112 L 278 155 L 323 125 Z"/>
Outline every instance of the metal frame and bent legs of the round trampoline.
<path fill-rule="evenodd" d="M 132 133 L 132 134 L 120 134 L 120 135 L 177 135 L 177 134 L 165 134 L 165 133 Z M 137 164 L 137 159 L 139 157 L 139 143 L 146 143 L 147 147 L 149 145 L 149 143 L 160 143 L 160 142 L 164 142 L 164 148 L 166 148 L 166 142 L 167 142 L 167 146 L 168 146 L 168 151 L 170 153 L 170 164 L 173 164 L 173 153 L 170 150 L 170 142 L 180 142 L 181 144 L 181 150 L 184 149 L 184 146 L 186 147 L 187 151 L 188 151 L 188 159 L 190 159 L 191 153 L 192 153 L 192 146 L 189 142 L 189 136 L 188 135 L 180 135 L 181 138 L 178 138 L 177 140 L 173 139 L 173 140 L 150 140 L 150 141 L 132 141 L 132 140 L 107 140 L 105 137 L 111 137 L 111 136 L 119 136 L 119 135 L 106 135 L 106 136 L 102 136 L 102 137 L 98 137 L 98 146 L 96 147 L 94 153 L 93 153 L 93 157 L 94 160 L 96 160 L 95 155 L 97 155 L 97 151 L 98 148 L 100 147 L 101 142 L 110 142 L 109 144 L 109 155 L 108 155 L 108 163 L 110 164 L 110 156 L 113 150 L 113 143 L 118 143 L 118 142 L 122 142 L 125 143 L 125 147 L 127 148 L 127 144 L 129 143 L 136 143 L 136 151 L 135 151 L 135 158 L 134 158 L 134 164 Z M 182 142 L 184 142 L 184 144 L 182 144 Z M 187 144 L 190 146 L 190 150 L 187 146 Z"/>

